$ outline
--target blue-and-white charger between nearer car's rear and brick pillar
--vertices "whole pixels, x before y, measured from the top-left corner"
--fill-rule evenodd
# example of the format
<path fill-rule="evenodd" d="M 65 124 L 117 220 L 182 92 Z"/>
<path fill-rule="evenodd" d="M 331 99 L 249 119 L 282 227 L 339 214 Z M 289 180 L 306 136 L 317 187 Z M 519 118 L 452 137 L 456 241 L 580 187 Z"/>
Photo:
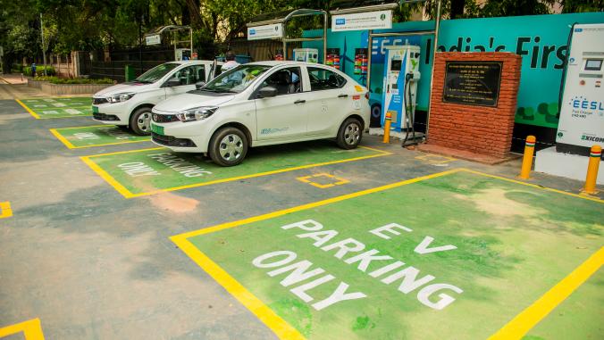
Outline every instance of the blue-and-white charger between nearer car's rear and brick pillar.
<path fill-rule="evenodd" d="M 384 63 L 382 127 L 386 112 L 392 117 L 391 129 L 401 132 L 413 128 L 419 72 L 419 46 L 388 46 Z"/>

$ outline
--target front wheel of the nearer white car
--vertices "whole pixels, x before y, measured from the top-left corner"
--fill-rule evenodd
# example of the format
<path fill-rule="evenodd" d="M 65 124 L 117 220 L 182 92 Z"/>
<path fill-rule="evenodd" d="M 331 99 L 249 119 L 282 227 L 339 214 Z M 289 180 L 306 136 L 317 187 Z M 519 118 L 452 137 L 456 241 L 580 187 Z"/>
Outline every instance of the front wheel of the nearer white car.
<path fill-rule="evenodd" d="M 247 154 L 247 137 L 240 129 L 226 127 L 214 133 L 210 140 L 210 157 L 223 167 L 243 162 Z"/>

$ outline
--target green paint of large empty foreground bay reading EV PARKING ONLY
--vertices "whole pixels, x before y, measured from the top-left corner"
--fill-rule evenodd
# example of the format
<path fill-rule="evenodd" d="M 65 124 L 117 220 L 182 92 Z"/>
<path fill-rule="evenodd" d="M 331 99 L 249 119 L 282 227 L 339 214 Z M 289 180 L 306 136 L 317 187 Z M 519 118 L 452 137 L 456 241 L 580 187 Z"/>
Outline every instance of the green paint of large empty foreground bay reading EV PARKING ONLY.
<path fill-rule="evenodd" d="M 601 203 L 460 172 L 192 236 L 189 241 L 310 339 L 484 339 L 600 249 L 603 217 Z M 321 230 L 339 234 L 315 246 L 328 234 L 311 239 L 299 236 L 308 233 L 301 228 L 281 228 L 304 220 L 315 220 L 323 225 Z M 388 234 L 390 240 L 369 233 L 390 223 L 413 231 L 397 229 L 400 235 Z M 428 248 L 455 245 L 457 249 L 422 254 L 419 245 L 427 236 L 433 238 Z M 329 246 L 349 237 L 365 245 L 364 250 L 337 258 L 338 249 Z M 415 253 L 418 246 L 420 253 Z M 346 263 L 370 249 L 379 251 L 376 256 L 393 259 L 372 261 L 365 272 L 357 269 L 359 262 Z M 273 268 L 260 267 L 286 255 L 253 263 L 276 251 L 293 252 L 297 258 Z M 298 261 L 310 261 L 308 270 L 324 272 L 296 283 L 288 277 L 291 271 L 267 274 Z M 395 261 L 406 264 L 384 274 L 374 272 Z M 408 266 L 419 270 L 417 280 L 434 278 L 425 278 L 428 281 L 417 287 L 409 280 L 401 286 L 407 294 L 399 291 L 400 278 L 394 276 L 390 284 L 382 281 Z M 328 274 L 334 278 L 305 291 L 310 301 L 291 291 Z M 280 284 L 286 277 L 287 287 Z M 601 287 L 601 273 L 596 279 Z M 340 282 L 349 285 L 347 294 L 360 292 L 366 297 L 317 310 Z M 463 293 L 451 286 L 432 293 L 424 290 L 432 284 L 456 286 Z M 604 293 L 590 288 L 579 297 L 584 304 L 575 305 L 565 334 L 602 338 Z M 441 310 L 432 308 L 439 302 L 445 304 Z M 544 322 L 535 334 L 555 335 L 557 327 L 555 322 Z"/>

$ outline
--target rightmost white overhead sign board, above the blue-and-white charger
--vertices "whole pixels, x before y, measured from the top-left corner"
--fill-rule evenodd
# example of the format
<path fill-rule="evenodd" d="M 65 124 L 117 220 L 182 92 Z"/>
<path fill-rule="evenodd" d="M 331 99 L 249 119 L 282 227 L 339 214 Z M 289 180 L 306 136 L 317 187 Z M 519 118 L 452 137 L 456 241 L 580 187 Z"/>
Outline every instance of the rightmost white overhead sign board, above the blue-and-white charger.
<path fill-rule="evenodd" d="M 331 31 L 391 29 L 392 11 L 350 13 L 331 16 Z"/>

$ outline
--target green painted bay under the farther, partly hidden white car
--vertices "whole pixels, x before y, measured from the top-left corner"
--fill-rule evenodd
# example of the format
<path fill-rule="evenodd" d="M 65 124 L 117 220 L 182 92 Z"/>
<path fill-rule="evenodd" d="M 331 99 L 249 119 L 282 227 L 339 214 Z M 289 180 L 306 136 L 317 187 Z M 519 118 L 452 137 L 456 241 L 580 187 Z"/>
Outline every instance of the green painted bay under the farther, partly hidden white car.
<path fill-rule="evenodd" d="M 63 137 L 68 147 L 88 147 L 143 142 L 148 136 L 134 135 L 111 125 L 94 125 L 88 127 L 55 129 Z"/>

